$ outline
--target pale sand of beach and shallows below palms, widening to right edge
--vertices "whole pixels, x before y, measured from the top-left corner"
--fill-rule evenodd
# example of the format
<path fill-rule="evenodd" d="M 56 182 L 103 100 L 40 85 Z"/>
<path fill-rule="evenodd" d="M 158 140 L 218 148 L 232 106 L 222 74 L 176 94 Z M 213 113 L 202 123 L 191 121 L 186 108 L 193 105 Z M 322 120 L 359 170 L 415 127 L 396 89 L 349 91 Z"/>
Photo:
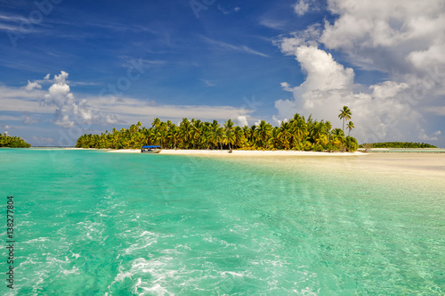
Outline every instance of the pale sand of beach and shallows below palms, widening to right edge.
<path fill-rule="evenodd" d="M 109 150 L 117 153 L 141 153 L 139 149 Z M 170 150 L 164 149 L 159 154 L 169 155 L 202 155 L 223 157 L 225 160 L 268 162 L 274 163 L 281 169 L 287 166 L 297 166 L 303 161 L 312 167 L 325 171 L 344 170 L 354 171 L 355 174 L 384 175 L 412 175 L 423 179 L 430 177 L 435 180 L 445 179 L 445 153 L 416 153 L 416 152 L 302 152 L 302 151 L 246 151 L 234 150 Z M 322 156 L 326 156 L 323 158 Z M 349 156 L 349 157 L 345 157 Z M 355 156 L 355 157 L 354 157 Z M 366 157 L 364 157 L 366 156 Z M 366 174 L 365 174 L 366 175 Z"/>

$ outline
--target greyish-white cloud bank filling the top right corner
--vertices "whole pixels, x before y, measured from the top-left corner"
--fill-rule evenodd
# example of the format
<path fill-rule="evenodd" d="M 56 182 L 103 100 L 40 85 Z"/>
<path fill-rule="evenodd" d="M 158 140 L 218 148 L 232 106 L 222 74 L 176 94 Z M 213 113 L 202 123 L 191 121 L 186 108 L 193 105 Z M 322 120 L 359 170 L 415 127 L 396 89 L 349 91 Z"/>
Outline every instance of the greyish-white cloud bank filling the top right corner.
<path fill-rule="evenodd" d="M 320 42 L 360 67 L 394 75 L 445 62 L 442 0 L 330 0 L 328 8 L 339 17 L 325 23 Z"/>

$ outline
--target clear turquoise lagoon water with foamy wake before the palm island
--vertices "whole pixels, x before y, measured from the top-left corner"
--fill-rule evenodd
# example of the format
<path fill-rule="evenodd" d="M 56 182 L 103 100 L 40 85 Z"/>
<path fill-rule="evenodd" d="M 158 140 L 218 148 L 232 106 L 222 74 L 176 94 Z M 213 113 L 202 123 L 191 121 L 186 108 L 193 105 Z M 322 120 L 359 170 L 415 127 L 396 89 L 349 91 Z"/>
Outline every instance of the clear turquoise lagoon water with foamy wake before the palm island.
<path fill-rule="evenodd" d="M 360 158 L 0 150 L 0 294 L 443 295 L 442 179 Z"/>

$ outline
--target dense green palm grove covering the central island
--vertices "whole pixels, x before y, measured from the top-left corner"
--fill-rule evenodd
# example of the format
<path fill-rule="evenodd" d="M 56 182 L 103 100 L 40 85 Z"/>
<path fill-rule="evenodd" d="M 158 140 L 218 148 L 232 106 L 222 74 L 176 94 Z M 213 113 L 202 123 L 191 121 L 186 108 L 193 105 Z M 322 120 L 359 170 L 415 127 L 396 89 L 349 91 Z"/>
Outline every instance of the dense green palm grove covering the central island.
<path fill-rule="evenodd" d="M 351 136 L 344 136 L 340 128 L 332 129 L 329 121 L 304 119 L 295 114 L 279 127 L 262 120 L 259 125 L 238 127 L 229 119 L 223 127 L 214 120 L 182 119 L 179 126 L 170 120 L 155 119 L 150 128 L 138 122 L 101 135 L 84 135 L 76 147 L 140 149 L 144 144 L 160 145 L 168 149 L 292 149 L 304 151 L 355 151 L 359 144 Z"/>

